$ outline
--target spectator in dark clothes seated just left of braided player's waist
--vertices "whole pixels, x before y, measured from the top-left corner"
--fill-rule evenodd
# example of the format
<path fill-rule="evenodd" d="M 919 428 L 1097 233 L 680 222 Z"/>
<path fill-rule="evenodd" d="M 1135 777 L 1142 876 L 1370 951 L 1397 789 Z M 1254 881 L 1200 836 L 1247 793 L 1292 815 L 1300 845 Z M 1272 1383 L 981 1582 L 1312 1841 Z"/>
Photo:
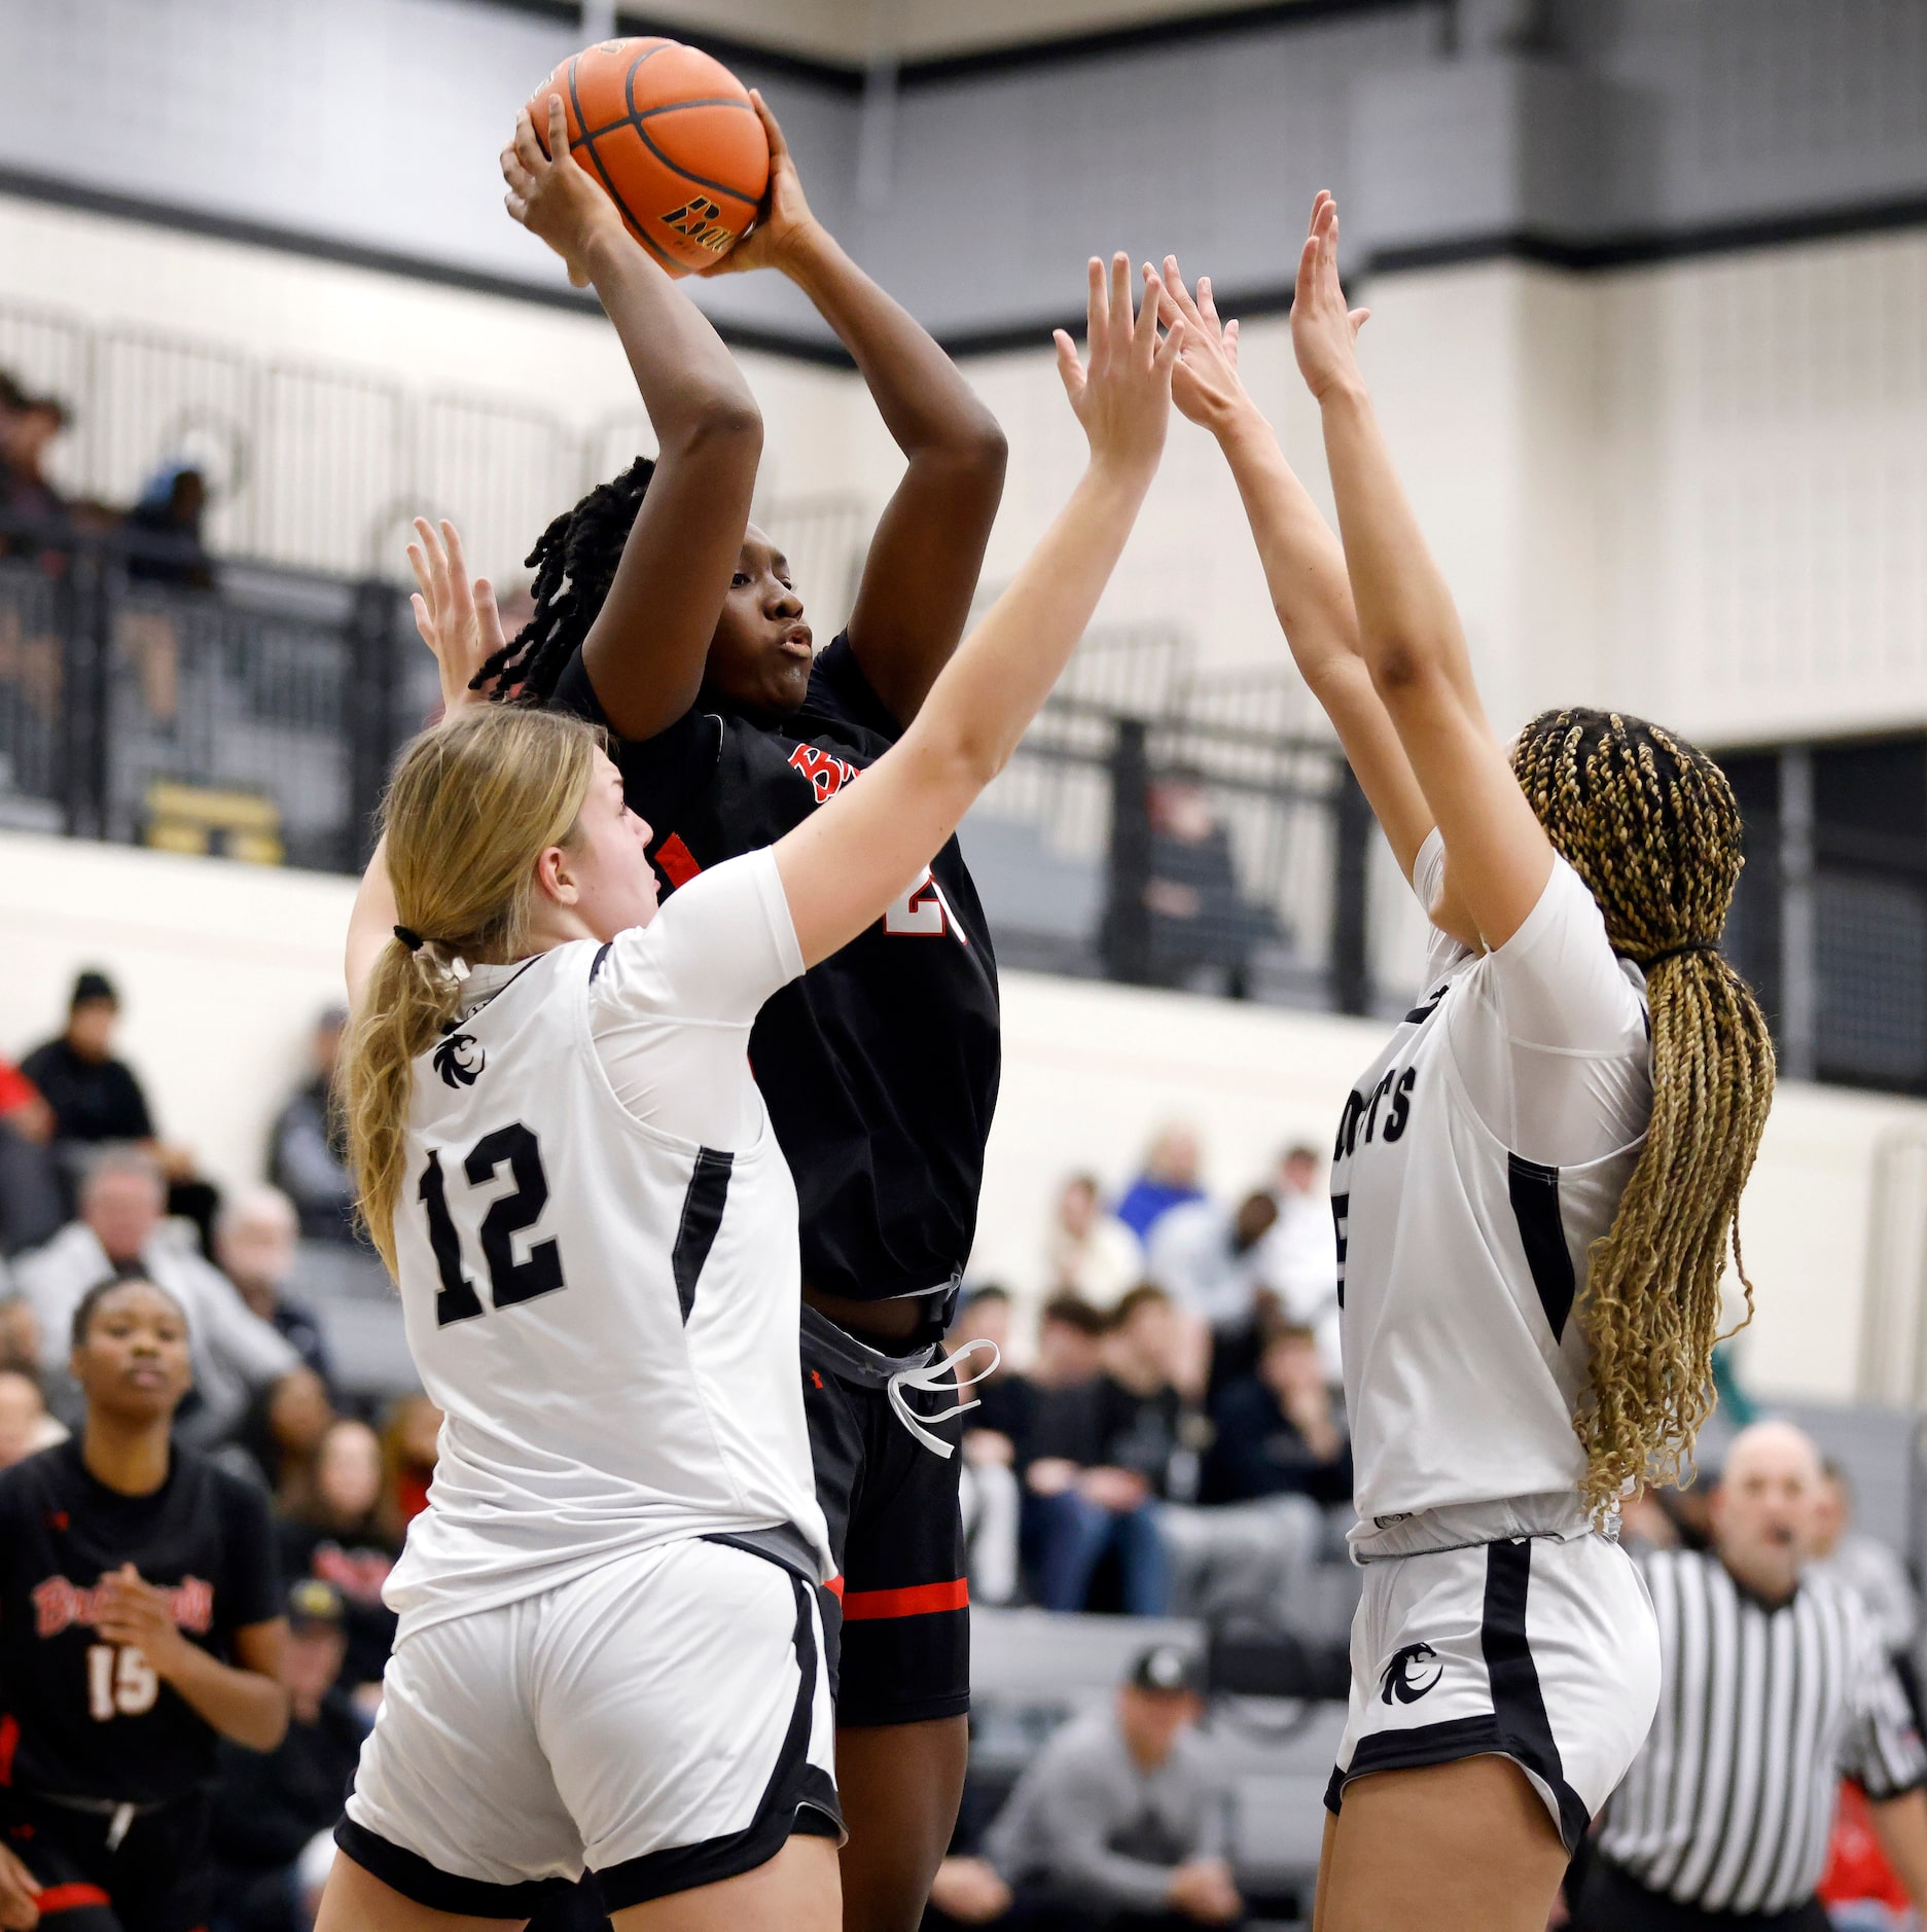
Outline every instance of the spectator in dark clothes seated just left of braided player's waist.
<path fill-rule="evenodd" d="M 1351 1501 L 1351 1443 L 1332 1412 L 1318 1339 L 1303 1323 L 1266 1329 L 1256 1372 L 1227 1383 L 1212 1403 L 1212 1428 L 1204 1501 Z"/>

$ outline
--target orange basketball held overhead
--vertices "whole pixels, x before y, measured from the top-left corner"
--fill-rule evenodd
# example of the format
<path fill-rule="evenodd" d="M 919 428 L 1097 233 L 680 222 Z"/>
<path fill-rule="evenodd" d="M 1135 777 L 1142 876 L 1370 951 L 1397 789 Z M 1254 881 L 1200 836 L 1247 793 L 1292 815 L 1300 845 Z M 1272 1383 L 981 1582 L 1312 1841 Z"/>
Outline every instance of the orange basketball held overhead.
<path fill-rule="evenodd" d="M 742 240 L 769 185 L 769 143 L 750 91 L 719 60 L 659 39 L 584 48 L 528 104 L 543 147 L 557 93 L 568 151 L 671 274 L 709 269 Z"/>

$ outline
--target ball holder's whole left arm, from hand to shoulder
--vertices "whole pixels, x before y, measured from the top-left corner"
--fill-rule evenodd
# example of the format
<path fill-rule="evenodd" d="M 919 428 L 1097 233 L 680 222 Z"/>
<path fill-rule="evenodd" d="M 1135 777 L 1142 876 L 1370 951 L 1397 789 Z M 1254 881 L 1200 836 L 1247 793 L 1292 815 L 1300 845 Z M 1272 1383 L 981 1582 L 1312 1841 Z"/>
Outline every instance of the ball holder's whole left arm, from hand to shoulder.
<path fill-rule="evenodd" d="M 655 427 L 655 475 L 582 643 L 609 723 L 651 738 L 696 701 L 750 522 L 763 419 L 707 317 L 570 156 L 561 95 L 549 97 L 547 153 L 528 110 L 516 118 L 503 180 L 508 213 L 568 263 L 578 288 L 593 284 Z"/>

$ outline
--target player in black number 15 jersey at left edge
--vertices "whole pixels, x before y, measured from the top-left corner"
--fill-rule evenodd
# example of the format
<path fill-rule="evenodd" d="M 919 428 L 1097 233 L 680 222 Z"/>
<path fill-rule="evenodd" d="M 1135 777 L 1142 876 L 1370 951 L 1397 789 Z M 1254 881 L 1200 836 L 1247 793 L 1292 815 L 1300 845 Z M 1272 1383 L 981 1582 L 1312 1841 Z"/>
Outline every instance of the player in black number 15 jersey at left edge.
<path fill-rule="evenodd" d="M 215 1743 L 288 1727 L 267 1501 L 170 1441 L 151 1281 L 89 1289 L 70 1366 L 81 1435 L 0 1474 L 0 1926 L 193 1932 Z"/>

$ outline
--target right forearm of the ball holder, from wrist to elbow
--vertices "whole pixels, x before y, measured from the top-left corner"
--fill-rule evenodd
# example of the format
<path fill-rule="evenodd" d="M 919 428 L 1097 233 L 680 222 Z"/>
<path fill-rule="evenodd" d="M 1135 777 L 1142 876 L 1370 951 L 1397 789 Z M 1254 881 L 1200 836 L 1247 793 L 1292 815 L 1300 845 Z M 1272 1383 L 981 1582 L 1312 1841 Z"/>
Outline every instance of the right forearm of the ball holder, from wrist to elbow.
<path fill-rule="evenodd" d="M 1001 489 L 1005 442 L 930 330 L 856 267 L 827 228 L 812 222 L 783 255 L 783 272 L 837 330 L 905 456 L 941 454 L 990 473 Z"/>

